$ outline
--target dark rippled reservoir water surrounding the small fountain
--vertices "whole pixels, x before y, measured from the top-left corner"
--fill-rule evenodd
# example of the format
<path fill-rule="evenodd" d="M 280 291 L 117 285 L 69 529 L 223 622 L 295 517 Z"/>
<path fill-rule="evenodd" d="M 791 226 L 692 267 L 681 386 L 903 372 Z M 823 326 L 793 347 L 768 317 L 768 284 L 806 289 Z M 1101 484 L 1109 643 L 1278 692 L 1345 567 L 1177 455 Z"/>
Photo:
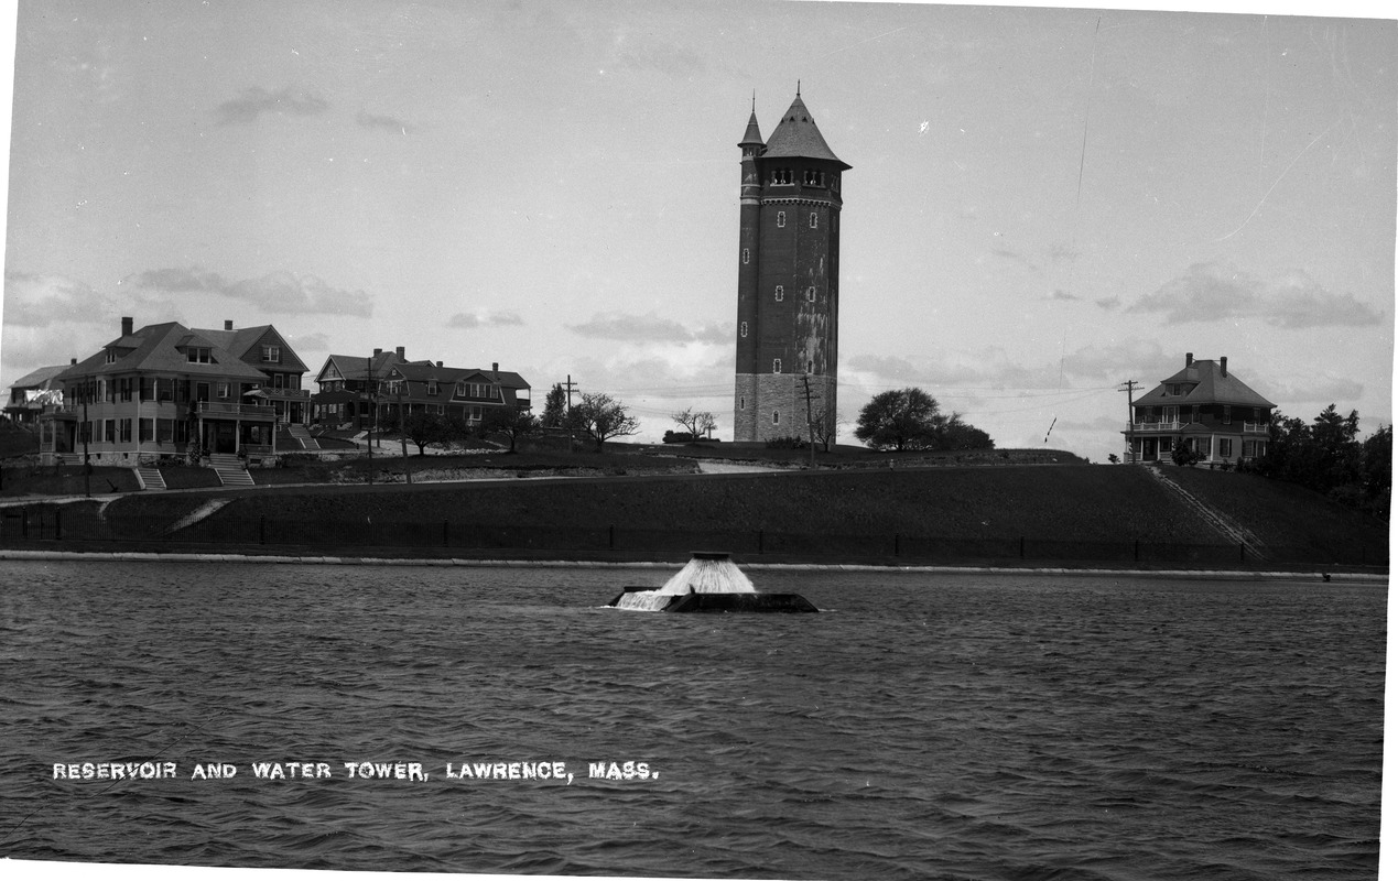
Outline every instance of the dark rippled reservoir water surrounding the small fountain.
<path fill-rule="evenodd" d="M 675 568 L 0 562 L 0 854 L 1377 871 L 1383 585 L 748 569 L 828 614 L 603 608 Z"/>

